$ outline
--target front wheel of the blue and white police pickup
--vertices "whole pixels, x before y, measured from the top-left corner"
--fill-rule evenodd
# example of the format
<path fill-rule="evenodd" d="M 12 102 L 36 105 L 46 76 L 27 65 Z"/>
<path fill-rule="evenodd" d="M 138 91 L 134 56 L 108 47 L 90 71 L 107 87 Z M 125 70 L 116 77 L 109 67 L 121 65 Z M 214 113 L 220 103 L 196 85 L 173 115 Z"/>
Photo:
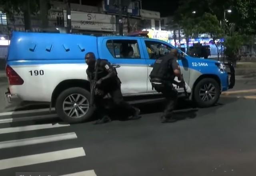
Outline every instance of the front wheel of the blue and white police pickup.
<path fill-rule="evenodd" d="M 212 90 L 213 87 L 214 90 Z M 212 91 L 210 92 L 209 90 Z M 215 105 L 220 98 L 220 85 L 212 78 L 204 78 L 196 84 L 193 93 L 194 101 L 199 107 L 210 107 Z"/>

